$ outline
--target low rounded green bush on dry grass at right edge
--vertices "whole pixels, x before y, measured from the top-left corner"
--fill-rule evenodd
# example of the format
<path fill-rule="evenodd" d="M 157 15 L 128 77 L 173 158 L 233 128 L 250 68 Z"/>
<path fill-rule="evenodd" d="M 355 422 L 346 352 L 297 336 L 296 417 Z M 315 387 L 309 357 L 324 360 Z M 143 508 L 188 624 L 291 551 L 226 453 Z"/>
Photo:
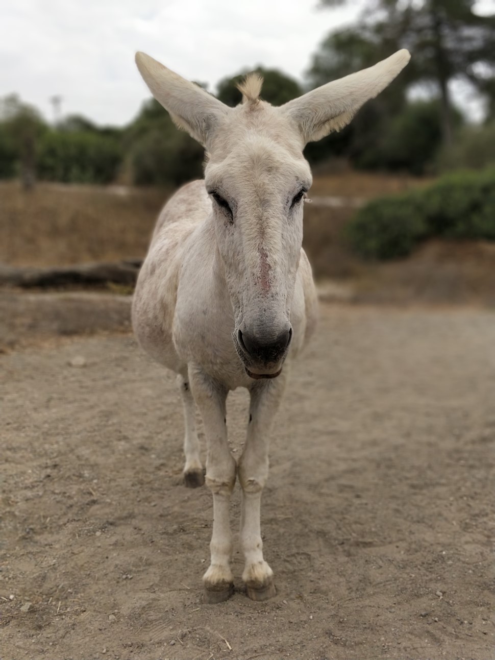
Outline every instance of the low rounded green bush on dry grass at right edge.
<path fill-rule="evenodd" d="M 495 240 L 495 168 L 456 172 L 427 189 L 375 199 L 347 226 L 352 249 L 366 259 L 405 257 L 433 236 Z"/>

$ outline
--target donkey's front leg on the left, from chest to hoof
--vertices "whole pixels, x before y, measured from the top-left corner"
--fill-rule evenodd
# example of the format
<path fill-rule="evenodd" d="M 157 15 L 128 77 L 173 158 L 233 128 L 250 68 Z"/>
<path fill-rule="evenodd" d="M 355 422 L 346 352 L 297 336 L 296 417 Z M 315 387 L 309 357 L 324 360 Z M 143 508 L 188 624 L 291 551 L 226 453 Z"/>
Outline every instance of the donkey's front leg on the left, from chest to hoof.
<path fill-rule="evenodd" d="M 230 495 L 236 482 L 236 461 L 230 453 L 225 423 L 227 390 L 201 370 L 189 365 L 189 382 L 199 407 L 207 438 L 206 484 L 213 493 L 211 563 L 203 576 L 205 601 L 221 603 L 234 593 L 230 570 Z"/>

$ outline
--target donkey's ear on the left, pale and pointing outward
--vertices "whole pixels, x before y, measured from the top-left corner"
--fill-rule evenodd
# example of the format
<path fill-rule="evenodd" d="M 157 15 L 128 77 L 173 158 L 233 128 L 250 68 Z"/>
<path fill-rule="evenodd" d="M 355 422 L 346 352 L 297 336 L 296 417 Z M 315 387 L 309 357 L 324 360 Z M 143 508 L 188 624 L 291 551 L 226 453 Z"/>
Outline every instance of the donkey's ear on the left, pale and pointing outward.
<path fill-rule="evenodd" d="M 168 110 L 174 123 L 207 147 L 230 108 L 145 53 L 136 53 L 136 64 L 154 98 Z"/>

